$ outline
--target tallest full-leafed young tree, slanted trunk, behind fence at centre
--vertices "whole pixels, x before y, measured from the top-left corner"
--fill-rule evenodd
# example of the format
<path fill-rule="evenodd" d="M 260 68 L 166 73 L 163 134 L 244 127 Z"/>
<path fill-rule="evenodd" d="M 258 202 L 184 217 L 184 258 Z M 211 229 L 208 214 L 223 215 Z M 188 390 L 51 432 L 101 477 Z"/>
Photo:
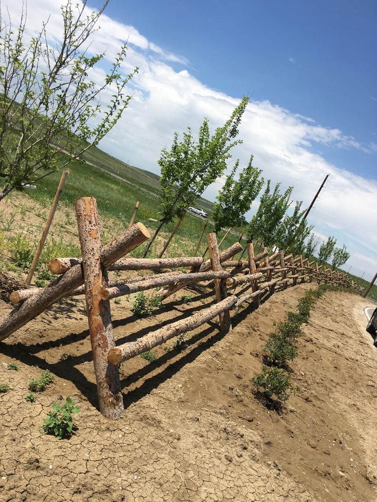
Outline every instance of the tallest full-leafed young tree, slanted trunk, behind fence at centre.
<path fill-rule="evenodd" d="M 183 133 L 183 140 L 174 134 L 170 150 L 163 148 L 158 165 L 161 168 L 161 220 L 155 234 L 146 246 L 143 256 L 148 253 L 154 239 L 165 223 L 176 216 L 181 217 L 187 206 L 193 205 L 203 191 L 214 183 L 224 172 L 229 151 L 241 140 L 235 140 L 238 127 L 245 111 L 248 98 L 244 97 L 231 117 L 222 127 L 210 135 L 208 119 L 204 118 L 195 140 L 191 128 Z"/>

